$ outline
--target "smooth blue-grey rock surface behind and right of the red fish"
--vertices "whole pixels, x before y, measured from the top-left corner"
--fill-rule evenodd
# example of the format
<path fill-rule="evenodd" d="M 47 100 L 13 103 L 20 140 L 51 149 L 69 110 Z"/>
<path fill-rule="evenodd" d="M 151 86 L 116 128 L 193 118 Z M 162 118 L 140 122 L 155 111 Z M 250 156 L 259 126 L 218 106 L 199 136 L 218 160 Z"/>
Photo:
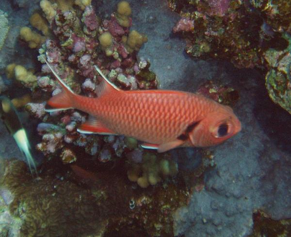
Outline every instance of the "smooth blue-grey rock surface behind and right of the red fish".
<path fill-rule="evenodd" d="M 100 13 L 110 14 L 116 2 L 101 6 Z M 132 28 L 148 37 L 138 55 L 149 59 L 161 88 L 194 92 L 211 79 L 240 92 L 234 111 L 242 121 L 242 132 L 211 148 L 216 167 L 205 174 L 205 188 L 194 191 L 189 205 L 175 212 L 175 236 L 247 236 L 258 208 L 274 219 L 291 218 L 291 117 L 268 99 L 264 75 L 191 59 L 183 51 L 183 40 L 171 32 L 179 16 L 165 0 L 129 2 Z M 176 160 L 183 157 L 180 172 L 182 167 L 196 166 L 197 154 L 189 149 L 174 150 L 172 155 Z"/>

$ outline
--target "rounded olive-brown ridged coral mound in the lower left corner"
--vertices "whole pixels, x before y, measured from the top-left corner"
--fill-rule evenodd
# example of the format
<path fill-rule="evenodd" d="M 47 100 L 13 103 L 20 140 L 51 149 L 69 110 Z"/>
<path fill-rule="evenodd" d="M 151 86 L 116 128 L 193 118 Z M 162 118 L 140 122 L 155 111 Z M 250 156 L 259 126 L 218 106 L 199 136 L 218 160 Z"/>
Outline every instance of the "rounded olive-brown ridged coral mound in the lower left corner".
<path fill-rule="evenodd" d="M 100 200 L 98 203 L 76 184 L 49 176 L 32 178 L 24 163 L 10 161 L 0 186 L 12 196 L 6 211 L 13 220 L 12 225 L 6 225 L 9 234 L 15 231 L 15 222 L 17 236 L 78 236 L 104 231 Z"/>

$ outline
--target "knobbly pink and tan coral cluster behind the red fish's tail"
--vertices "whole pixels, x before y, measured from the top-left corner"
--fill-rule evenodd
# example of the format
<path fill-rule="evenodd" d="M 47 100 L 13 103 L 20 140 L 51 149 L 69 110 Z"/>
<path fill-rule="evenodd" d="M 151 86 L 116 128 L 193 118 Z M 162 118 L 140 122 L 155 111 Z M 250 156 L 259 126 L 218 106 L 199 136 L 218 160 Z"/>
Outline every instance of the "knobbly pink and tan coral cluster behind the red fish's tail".
<path fill-rule="evenodd" d="M 68 7 L 64 11 L 58 4 L 52 5 L 48 0 L 45 2 L 51 6 L 51 14 L 45 11 L 44 16 L 53 37 L 47 37 L 39 49 L 39 60 L 42 61 L 41 57 L 45 56 L 75 93 L 97 96 L 99 76 L 94 65 L 122 89 L 157 87 L 156 76 L 149 71 L 149 64 L 146 61 L 139 64 L 137 61 L 136 52 L 146 42 L 146 36 L 130 31 L 131 10 L 128 3 L 118 6 L 118 16 L 113 13 L 109 19 L 101 19 L 91 5 L 84 7 L 84 10 Z M 34 92 L 45 92 L 46 97 L 61 92 L 60 85 L 46 65 L 42 66 L 41 75 L 37 77 Z M 93 155 L 96 161 L 102 162 L 114 160 L 135 148 L 128 148 L 123 136 L 105 136 L 102 139 L 100 135 L 80 134 L 77 128 L 87 115 L 75 110 L 57 111 L 49 115 L 44 111 L 44 103 L 30 103 L 26 108 L 44 122 L 37 129 L 42 136 L 37 150 L 48 156 L 59 153 L 65 163 L 69 163 L 70 156 L 78 158 L 74 147 L 80 147 L 83 154 Z"/>

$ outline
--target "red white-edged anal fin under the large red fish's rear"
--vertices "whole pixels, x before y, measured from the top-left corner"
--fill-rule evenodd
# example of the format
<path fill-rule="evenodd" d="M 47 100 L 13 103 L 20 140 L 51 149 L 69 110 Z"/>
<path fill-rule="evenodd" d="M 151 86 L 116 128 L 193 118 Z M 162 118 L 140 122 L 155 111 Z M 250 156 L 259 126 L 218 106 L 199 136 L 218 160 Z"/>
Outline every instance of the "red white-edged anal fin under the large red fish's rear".
<path fill-rule="evenodd" d="M 106 128 L 95 117 L 90 116 L 87 121 L 81 124 L 77 129 L 79 133 L 83 134 L 101 134 L 101 135 L 116 135 L 113 131 Z"/>

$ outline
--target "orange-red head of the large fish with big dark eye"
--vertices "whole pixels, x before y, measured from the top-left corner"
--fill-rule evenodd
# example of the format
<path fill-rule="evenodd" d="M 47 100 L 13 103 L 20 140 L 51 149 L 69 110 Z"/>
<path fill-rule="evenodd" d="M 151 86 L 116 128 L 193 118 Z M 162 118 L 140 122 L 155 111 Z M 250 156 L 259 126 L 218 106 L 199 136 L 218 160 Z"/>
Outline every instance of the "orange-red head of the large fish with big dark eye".
<path fill-rule="evenodd" d="M 240 120 L 229 106 L 211 112 L 201 119 L 197 127 L 189 134 L 190 141 L 196 147 L 209 147 L 222 143 L 239 133 Z"/>

